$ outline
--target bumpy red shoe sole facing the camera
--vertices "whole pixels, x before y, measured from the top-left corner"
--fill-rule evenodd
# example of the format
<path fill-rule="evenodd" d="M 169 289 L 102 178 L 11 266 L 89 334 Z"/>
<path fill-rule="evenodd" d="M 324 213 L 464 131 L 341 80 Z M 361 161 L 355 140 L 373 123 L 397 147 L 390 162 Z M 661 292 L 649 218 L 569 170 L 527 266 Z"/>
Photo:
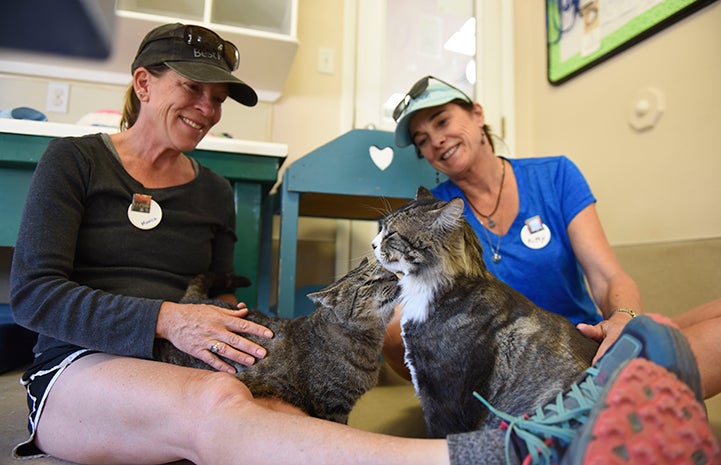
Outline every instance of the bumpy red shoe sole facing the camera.
<path fill-rule="evenodd" d="M 630 361 L 592 412 L 584 465 L 717 465 L 721 451 L 691 389 L 645 359 Z"/>

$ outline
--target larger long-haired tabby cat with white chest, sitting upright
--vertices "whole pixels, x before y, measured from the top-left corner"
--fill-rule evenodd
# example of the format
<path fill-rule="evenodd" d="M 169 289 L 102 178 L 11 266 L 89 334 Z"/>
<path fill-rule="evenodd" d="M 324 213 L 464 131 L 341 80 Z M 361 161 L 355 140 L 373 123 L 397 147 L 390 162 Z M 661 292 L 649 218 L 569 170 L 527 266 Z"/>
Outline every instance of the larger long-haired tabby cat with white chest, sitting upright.
<path fill-rule="evenodd" d="M 378 261 L 402 275 L 406 365 L 430 437 L 498 427 L 474 391 L 501 411 L 532 413 L 568 388 L 598 348 L 488 271 L 463 206 L 421 187 L 373 240 Z"/>

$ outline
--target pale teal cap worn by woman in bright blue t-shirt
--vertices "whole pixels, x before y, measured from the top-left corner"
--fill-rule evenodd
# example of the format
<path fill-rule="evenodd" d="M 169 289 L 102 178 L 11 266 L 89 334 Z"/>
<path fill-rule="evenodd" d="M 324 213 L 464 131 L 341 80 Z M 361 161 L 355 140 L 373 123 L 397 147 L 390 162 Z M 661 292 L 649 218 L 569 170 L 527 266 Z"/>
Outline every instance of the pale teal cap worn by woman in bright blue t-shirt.
<path fill-rule="evenodd" d="M 413 144 L 408 131 L 413 113 L 424 108 L 445 105 L 454 100 L 473 102 L 465 92 L 437 77 L 426 76 L 419 79 L 393 110 L 393 119 L 396 121 L 396 145 L 407 147 Z"/>

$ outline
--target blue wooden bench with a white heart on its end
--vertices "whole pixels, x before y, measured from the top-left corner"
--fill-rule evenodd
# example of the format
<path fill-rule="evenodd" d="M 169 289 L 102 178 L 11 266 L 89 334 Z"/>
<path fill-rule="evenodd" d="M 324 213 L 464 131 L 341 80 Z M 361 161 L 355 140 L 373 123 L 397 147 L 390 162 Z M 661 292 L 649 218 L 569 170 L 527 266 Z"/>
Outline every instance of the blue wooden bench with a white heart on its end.
<path fill-rule="evenodd" d="M 342 134 L 288 166 L 279 193 L 278 314 L 296 316 L 299 216 L 377 220 L 414 198 L 418 186 L 445 180 L 413 147 L 397 147 L 393 133 L 372 129 Z"/>

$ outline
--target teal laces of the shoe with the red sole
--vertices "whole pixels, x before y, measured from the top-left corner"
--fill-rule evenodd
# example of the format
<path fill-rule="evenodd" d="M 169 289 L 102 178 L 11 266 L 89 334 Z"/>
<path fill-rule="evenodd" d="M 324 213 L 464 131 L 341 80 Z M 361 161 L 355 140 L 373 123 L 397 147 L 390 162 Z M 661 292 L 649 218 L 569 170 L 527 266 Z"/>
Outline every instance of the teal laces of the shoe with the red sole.
<path fill-rule="evenodd" d="M 596 376 L 598 368 L 586 370 L 586 376 L 580 383 L 573 383 L 568 391 L 559 393 L 556 400 L 536 409 L 533 416 L 528 414 L 513 416 L 494 408 L 480 394 L 473 395 L 494 415 L 503 420 L 501 429 L 506 430 L 506 463 L 511 464 L 511 439 L 515 436 L 525 442 L 528 455 L 523 465 L 552 465 L 561 459 L 558 453 L 566 449 L 581 426 L 588 419 L 603 388 Z M 554 447 L 554 442 L 558 446 Z"/>

